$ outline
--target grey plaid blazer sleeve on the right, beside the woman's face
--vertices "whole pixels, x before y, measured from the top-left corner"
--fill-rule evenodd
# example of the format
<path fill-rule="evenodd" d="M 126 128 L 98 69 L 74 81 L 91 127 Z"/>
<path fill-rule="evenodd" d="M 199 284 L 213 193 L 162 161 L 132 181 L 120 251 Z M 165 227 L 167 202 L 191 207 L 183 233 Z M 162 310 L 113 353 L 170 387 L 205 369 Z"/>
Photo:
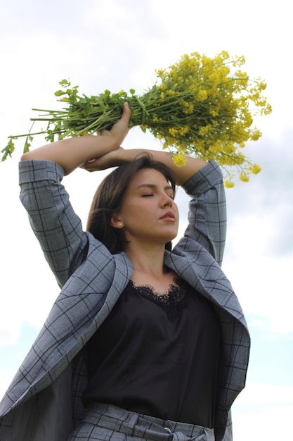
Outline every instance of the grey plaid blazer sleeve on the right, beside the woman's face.
<path fill-rule="evenodd" d="M 188 227 L 178 243 L 184 251 L 194 249 L 194 241 L 202 245 L 221 265 L 226 242 L 226 196 L 223 175 L 215 161 L 193 175 L 183 188 L 192 198 L 188 211 Z"/>

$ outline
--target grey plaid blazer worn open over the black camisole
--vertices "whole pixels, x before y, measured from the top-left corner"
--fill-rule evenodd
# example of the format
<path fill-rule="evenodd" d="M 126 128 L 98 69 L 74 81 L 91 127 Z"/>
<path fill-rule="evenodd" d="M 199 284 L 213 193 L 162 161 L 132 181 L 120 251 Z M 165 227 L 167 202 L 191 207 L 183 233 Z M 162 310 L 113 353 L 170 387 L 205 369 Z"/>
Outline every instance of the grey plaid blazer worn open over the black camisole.
<path fill-rule="evenodd" d="M 1 441 L 65 441 L 83 416 L 86 342 L 131 278 L 125 253 L 112 255 L 70 205 L 63 168 L 20 163 L 20 199 L 62 288 L 37 340 L 0 404 Z M 215 306 L 222 329 L 216 440 L 232 440 L 230 406 L 245 386 L 249 333 L 240 304 L 221 271 L 226 201 L 219 166 L 211 161 L 185 182 L 188 228 L 165 263 Z M 190 338 L 192 336 L 190 335 Z"/>

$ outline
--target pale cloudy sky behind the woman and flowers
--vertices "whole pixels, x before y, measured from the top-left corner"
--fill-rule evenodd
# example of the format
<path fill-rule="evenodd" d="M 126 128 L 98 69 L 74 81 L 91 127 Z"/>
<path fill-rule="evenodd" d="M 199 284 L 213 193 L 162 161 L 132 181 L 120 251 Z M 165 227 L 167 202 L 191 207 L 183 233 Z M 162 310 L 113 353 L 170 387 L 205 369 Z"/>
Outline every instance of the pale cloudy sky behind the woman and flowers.
<path fill-rule="evenodd" d="M 245 56 L 273 107 L 256 118 L 263 133 L 246 155 L 262 170 L 228 189 L 223 270 L 247 318 L 252 352 L 247 386 L 233 404 L 235 441 L 288 439 L 293 414 L 293 123 L 292 23 L 287 0 L 1 0 L 0 149 L 27 132 L 32 108 L 56 108 L 53 93 L 69 78 L 84 94 L 134 88 L 143 93 L 155 69 L 182 54 Z M 32 148 L 44 144 L 35 137 Z M 129 132 L 124 148 L 159 149 L 150 134 Z M 22 141 L 0 163 L 0 395 L 44 323 L 58 286 L 35 240 L 18 195 Z M 65 178 L 85 225 L 104 172 Z M 181 231 L 188 198 L 178 192 Z"/>

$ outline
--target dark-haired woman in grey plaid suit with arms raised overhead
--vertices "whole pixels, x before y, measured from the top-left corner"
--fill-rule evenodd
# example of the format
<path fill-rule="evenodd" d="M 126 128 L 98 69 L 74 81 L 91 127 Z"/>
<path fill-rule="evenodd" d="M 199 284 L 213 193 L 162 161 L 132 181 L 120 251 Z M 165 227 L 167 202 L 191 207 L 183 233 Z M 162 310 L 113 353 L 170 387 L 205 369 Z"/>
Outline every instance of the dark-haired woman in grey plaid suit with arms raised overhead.
<path fill-rule="evenodd" d="M 219 266 L 221 172 L 122 149 L 130 114 L 22 156 L 22 204 L 62 290 L 1 403 L 1 440 L 232 440 L 249 334 Z M 60 180 L 113 166 L 83 232 Z M 175 184 L 192 200 L 170 251 Z"/>

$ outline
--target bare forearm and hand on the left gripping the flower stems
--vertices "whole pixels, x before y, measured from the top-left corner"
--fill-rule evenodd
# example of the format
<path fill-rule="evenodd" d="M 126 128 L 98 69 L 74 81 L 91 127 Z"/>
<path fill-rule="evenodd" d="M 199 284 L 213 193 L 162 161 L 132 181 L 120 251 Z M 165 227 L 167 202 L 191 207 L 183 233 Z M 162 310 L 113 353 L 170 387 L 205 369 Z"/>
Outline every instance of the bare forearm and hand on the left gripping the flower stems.
<path fill-rule="evenodd" d="M 61 139 L 60 141 L 46 144 L 39 149 L 34 149 L 23 154 L 21 161 L 38 159 L 53 161 L 65 170 L 65 175 L 75 168 L 82 166 L 88 161 L 100 158 L 110 151 L 118 149 L 128 132 L 128 123 L 131 111 L 127 103 L 124 103 L 122 118 L 120 118 L 109 132 L 102 135 L 88 135 Z"/>

